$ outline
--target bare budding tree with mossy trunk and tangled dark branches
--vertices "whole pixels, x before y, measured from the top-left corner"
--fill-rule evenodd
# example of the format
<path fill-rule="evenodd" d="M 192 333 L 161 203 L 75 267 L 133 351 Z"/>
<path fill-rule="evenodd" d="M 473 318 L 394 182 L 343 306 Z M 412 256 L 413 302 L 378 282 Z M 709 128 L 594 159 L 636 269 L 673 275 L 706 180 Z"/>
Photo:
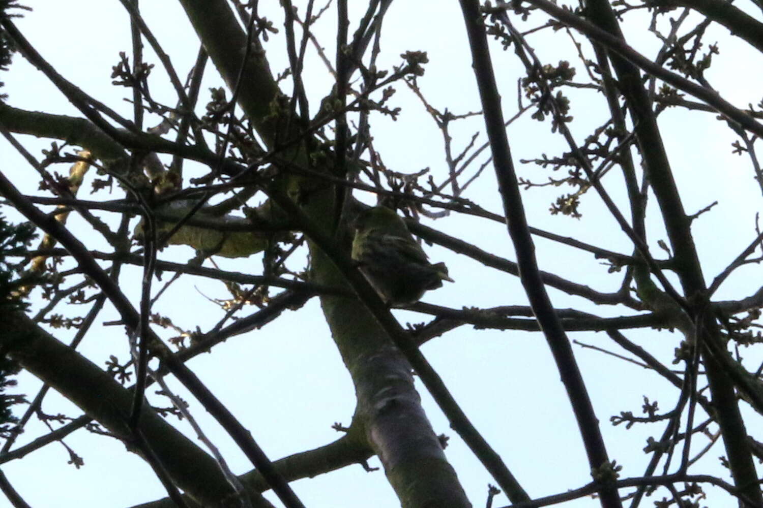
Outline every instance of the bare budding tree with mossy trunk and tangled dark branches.
<path fill-rule="evenodd" d="M 117 104 L 104 104 L 79 88 L 76 72 L 51 65 L 35 49 L 16 19 L 21 14 L 34 19 L 34 13 L 25 13 L 16 2 L 0 1 L 0 67 L 8 67 L 11 53 L 18 52 L 79 110 L 78 115 L 66 116 L 14 107 L 12 96 L 0 101 L 0 132 L 37 171 L 43 191 L 24 192 L 21 177 L 2 168 L 0 195 L 5 204 L 43 238 L 24 248 L 29 240 L 26 229 L 0 228 L 10 238 L 2 244 L 6 264 L 0 267 L 9 276 L 18 272 L 11 260 L 21 260 L 26 267 L 14 282 L 0 280 L 4 302 L 13 304 L 0 319 L 0 350 L 13 363 L 0 366 L 0 373 L 13 375 L 21 367 L 44 382 L 24 413 L 2 427 L 0 463 L 21 460 L 56 441 L 64 443 L 70 433 L 86 428 L 103 434 L 102 439 L 118 439 L 153 468 L 168 497 L 142 505 L 152 508 L 272 506 L 262 496 L 266 490 L 284 506 L 303 506 L 291 481 L 352 464 L 368 468 L 366 461 L 372 456 L 378 457 L 402 506 L 472 506 L 469 498 L 485 496 L 492 506 L 499 490 L 511 506 L 523 507 L 591 495 L 607 508 L 635 507 L 643 497 L 659 494 L 658 506 L 699 506 L 708 485 L 720 487 L 727 503 L 763 506 L 754 463 L 755 458 L 763 461 L 763 446 L 751 424 L 763 414 L 763 366 L 753 363 L 759 356 L 760 333 L 755 328 L 761 326 L 763 288 L 753 280 L 752 286 L 741 289 L 752 287 L 746 293 L 725 300 L 716 296 L 736 273 L 755 278 L 749 276 L 755 273 L 750 268 L 763 259 L 763 233 L 739 203 L 735 220 L 750 225 L 744 229 L 745 247 L 720 270 L 713 260 L 716 253 L 700 255 L 698 244 L 707 241 L 695 227 L 700 216 L 714 220 L 714 228 L 731 225 L 713 219 L 716 203 L 698 211 L 687 211 L 684 203 L 700 185 L 712 195 L 723 176 L 681 185 L 681 157 L 671 157 L 669 148 L 679 134 L 666 128 L 670 124 L 664 120 L 681 110 L 682 119 L 691 119 L 682 121 L 707 124 L 716 129 L 713 132 L 732 136 L 731 148 L 719 134 L 713 149 L 745 155 L 742 166 L 753 171 L 748 181 L 763 190 L 755 153 L 755 142 L 763 135 L 763 103 L 751 101 L 742 109 L 735 105 L 738 97 L 726 97 L 723 88 L 710 82 L 711 65 L 726 57 L 719 49 L 726 41 L 719 44 L 707 35 L 719 27 L 728 29 L 728 43 L 752 51 L 758 64 L 747 65 L 759 69 L 760 12 L 746 6 L 755 11 L 750 14 L 720 0 L 650 0 L 639 5 L 588 0 L 565 6 L 548 0 L 483 6 L 460 0 L 459 37 L 468 48 L 472 69 L 451 70 L 473 74 L 481 112 L 454 113 L 430 98 L 431 88 L 422 78 L 428 53 L 407 50 L 397 64 L 381 63 L 390 60 L 382 51 L 381 34 L 384 31 L 388 40 L 395 30 L 383 21 L 404 5 L 369 0 L 354 15 L 357 6 L 348 3 L 316 5 L 307 0 L 293 5 L 282 0 L 278 10 L 259 2 L 180 0 L 198 36 L 198 56 L 185 77 L 159 44 L 164 25 L 144 18 L 137 0 L 121 0 L 129 14 L 132 47 L 121 53 L 111 78 L 129 94 L 132 118 L 126 118 Z M 272 21 L 274 17 L 282 26 Z M 327 40 L 320 27 L 333 23 L 335 40 Z M 652 45 L 657 40 L 656 52 L 639 53 L 634 48 L 645 45 L 644 37 L 629 43 L 623 35 L 628 30 L 640 30 Z M 284 46 L 276 49 L 275 40 Z M 431 41 L 433 46 L 442 42 Z M 150 47 L 150 57 L 144 55 L 144 46 Z M 728 57 L 733 59 L 731 53 Z M 577 64 L 560 59 L 567 55 L 577 58 Z M 323 75 L 330 75 L 327 93 L 316 85 L 320 75 L 307 71 L 308 62 L 323 63 Z M 506 65 L 511 65 L 509 81 Z M 201 83 L 208 75 L 224 87 L 212 88 L 206 97 Z M 174 91 L 172 102 L 156 93 L 163 76 Z M 433 158 L 433 164 L 444 159 L 444 164 L 436 162 L 444 170 L 403 171 L 385 164 L 388 155 L 378 145 L 376 129 L 401 114 L 398 92 L 416 98 L 442 133 L 444 153 Z M 516 94 L 517 107 L 502 103 L 501 94 Z M 584 113 L 575 113 L 578 110 Z M 475 121 L 487 135 L 482 145 L 478 134 L 464 135 L 459 127 Z M 520 172 L 511 152 L 517 153 L 513 129 L 538 125 L 546 137 L 537 146 L 544 148 L 533 146 L 538 151 L 522 159 L 526 164 Z M 40 156 L 27 148 L 28 139 L 21 135 L 55 141 Z M 519 152 L 526 150 L 520 147 Z M 67 165 L 67 176 L 56 173 Z M 497 180 L 492 190 L 491 171 Z M 488 190 L 472 193 L 481 182 L 488 182 Z M 88 199 L 80 189 L 85 183 L 92 185 Z M 529 225 L 530 205 L 523 201 L 546 206 L 549 191 L 559 193 L 560 187 L 565 192 L 555 195 L 550 207 L 559 231 Z M 363 275 L 364 266 L 351 256 L 353 235 L 358 235 L 354 219 L 375 203 L 398 210 L 410 232 L 427 244 L 476 262 L 487 273 L 483 277 L 517 276 L 523 295 L 507 294 L 502 305 L 479 308 L 474 306 L 478 288 L 474 294 L 456 289 L 449 293 L 455 295 L 449 306 L 404 305 L 429 319 L 404 327 L 403 315 L 390 308 L 388 295 L 375 291 Z M 489 211 L 492 203 L 501 203 L 502 212 Z M 610 225 L 602 229 L 594 218 L 583 215 L 584 209 L 607 214 Z M 67 225 L 72 211 L 86 229 L 74 232 Z M 438 219 L 434 225 L 442 227 L 425 225 L 423 219 Z M 501 234 L 508 233 L 516 260 L 466 240 L 463 226 L 462 238 L 445 232 L 449 222 L 462 219 L 465 222 L 459 224 L 475 229 L 485 223 L 505 225 Z M 599 241 L 575 238 L 578 225 L 597 228 Z M 612 247 L 610 237 L 619 235 L 629 242 L 626 248 Z M 581 265 L 571 276 L 548 270 L 537 258 L 538 238 L 553 244 L 554 252 L 582 253 L 593 263 Z M 195 256 L 179 260 L 182 251 L 172 246 L 180 244 L 194 248 Z M 246 265 L 238 266 L 248 269 L 220 266 L 226 259 L 247 258 Z M 382 262 L 378 254 L 375 259 Z M 384 262 L 389 259 L 410 262 L 403 256 L 386 257 Z M 143 268 L 140 283 L 124 275 L 130 265 Z M 380 270 L 391 278 L 410 273 L 401 268 L 389 264 Z M 599 280 L 594 270 L 606 270 L 607 276 Z M 210 302 L 218 320 L 208 330 L 176 324 L 182 308 L 174 308 L 173 315 L 156 311 L 156 302 L 170 286 L 191 277 L 224 281 L 229 292 L 224 300 Z M 615 289 L 594 289 L 594 281 L 595 286 Z M 462 282 L 456 278 L 453 286 Z M 570 301 L 575 308 L 555 308 L 549 291 L 574 296 Z M 256 433 L 250 432 L 251 422 L 234 415 L 186 362 L 200 353 L 214 354 L 230 337 L 276 319 L 288 320 L 288 310 L 313 298 L 320 299 L 353 380 L 356 408 L 349 426 L 336 424 L 340 439 L 271 460 Z M 24 311 L 24 301 L 33 304 L 31 312 Z M 82 311 L 82 305 L 89 309 Z M 256 310 L 247 312 L 252 305 Z M 105 306 L 118 313 L 112 324 L 124 328 L 123 343 L 129 344 L 130 356 L 119 358 L 115 351 L 103 369 L 77 347 L 92 334 Z M 603 315 L 616 317 L 597 315 L 597 306 L 606 306 Z M 523 465 L 478 431 L 474 415 L 470 418 L 462 409 L 462 401 L 420 350 L 423 343 L 468 326 L 545 337 L 556 369 L 543 375 L 561 379 L 564 385 L 578 430 L 569 429 L 565 439 L 583 444 L 591 474 L 588 483 L 568 485 L 569 490 L 559 494 L 529 494 L 523 487 Z M 68 328 L 76 329 L 71 343 L 53 336 Z M 674 356 L 650 351 L 649 341 L 639 343 L 644 329 L 658 330 Z M 591 377 L 578 366 L 569 337 L 580 331 L 607 336 L 597 345 L 581 343 L 582 347 L 609 356 L 611 363 L 636 363 L 674 387 L 670 395 L 645 395 L 643 416 L 623 407 L 610 418 L 614 426 L 622 424 L 617 427 L 620 433 L 642 426 L 656 436 L 645 449 L 649 460 L 641 474 L 623 478 L 607 449 L 612 445 L 602 433 L 584 381 L 584 375 Z M 746 348 L 744 356 L 740 346 Z M 500 369 L 501 360 L 486 368 Z M 182 384 L 195 401 L 189 405 L 168 379 Z M 447 437 L 433 429 L 414 386 L 416 379 L 491 475 L 497 487 L 491 486 L 487 494 L 467 492 L 462 486 L 456 476 L 459 465 L 454 468 L 443 452 Z M 150 386 L 158 387 L 158 396 Z M 67 419 L 41 411 L 49 388 L 76 404 L 82 416 Z M 7 404 L 21 402 L 13 395 L 5 397 Z M 169 398 L 169 407 L 159 406 L 161 397 Z M 672 398 L 672 407 L 658 407 L 657 397 Z M 196 405 L 208 411 L 246 455 L 253 466 L 250 472 L 231 471 L 224 452 L 196 420 Z M 523 409 L 510 407 L 507 414 L 523 417 Z M 50 433 L 14 447 L 34 416 L 50 427 Z M 192 424 L 203 447 L 173 424 L 175 417 Z M 54 429 L 52 420 L 63 425 Z M 634 453 L 640 448 L 634 444 Z M 74 449 L 67 450 L 71 462 L 82 462 Z M 727 474 L 707 466 L 717 461 L 702 460 L 710 450 L 723 455 L 720 464 Z M 567 451 L 555 450 L 562 452 Z M 23 493 L 2 473 L 0 487 L 13 506 L 27 506 Z"/>

